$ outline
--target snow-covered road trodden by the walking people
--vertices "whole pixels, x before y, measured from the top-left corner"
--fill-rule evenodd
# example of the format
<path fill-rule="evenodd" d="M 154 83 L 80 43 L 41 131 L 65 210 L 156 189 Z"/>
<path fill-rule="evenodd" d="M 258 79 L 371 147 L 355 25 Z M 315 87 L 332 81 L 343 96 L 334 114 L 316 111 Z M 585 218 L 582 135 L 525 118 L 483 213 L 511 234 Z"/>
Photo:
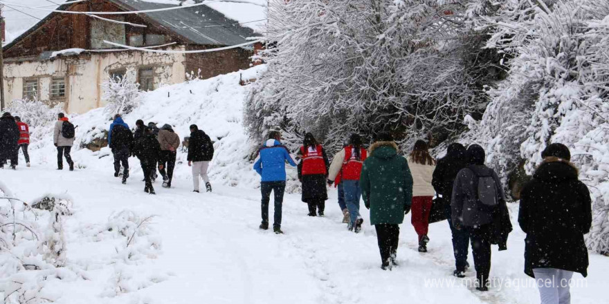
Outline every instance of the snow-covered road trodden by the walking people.
<path fill-rule="evenodd" d="M 131 165 L 137 166 L 133 158 Z M 516 222 L 508 251 L 493 246 L 491 276 L 510 281 L 482 294 L 451 276 L 446 222 L 430 226 L 429 252 L 420 254 L 408 216 L 401 225 L 400 266 L 383 272 L 367 210 L 363 233 L 349 233 L 340 223 L 334 190 L 325 218 L 307 217 L 299 196 L 287 195 L 285 234 L 276 236 L 258 229 L 260 194 L 255 189 L 215 187 L 212 194 L 198 194 L 191 192 L 190 180 L 178 179 L 173 189 L 156 182 L 157 195 L 149 196 L 140 171 L 133 172 L 122 185 L 111 168 L 0 170 L 0 181 L 23 200 L 45 193 L 73 198 L 75 214 L 66 219 L 67 264 L 80 269 L 83 279 L 53 281 L 49 287 L 61 296 L 56 303 L 538 303 L 536 288 L 522 273 L 524 236 Z M 517 208 L 511 206 L 512 217 Z M 124 209 L 154 215 L 149 229 L 161 243 L 155 254 L 127 264 L 110 258 L 116 239 L 88 232 Z M 609 258 L 591 254 L 590 276 L 579 282 L 583 287 L 572 289 L 573 302 L 608 303 L 608 272 Z M 472 279 L 474 272 L 467 275 Z"/>

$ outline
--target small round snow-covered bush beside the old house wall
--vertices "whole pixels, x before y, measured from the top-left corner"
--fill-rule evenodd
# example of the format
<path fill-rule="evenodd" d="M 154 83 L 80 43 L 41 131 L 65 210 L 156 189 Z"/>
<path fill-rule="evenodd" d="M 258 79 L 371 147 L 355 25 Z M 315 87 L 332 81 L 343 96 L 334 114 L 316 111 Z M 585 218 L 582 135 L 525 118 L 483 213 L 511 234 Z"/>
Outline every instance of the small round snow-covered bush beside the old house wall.
<path fill-rule="evenodd" d="M 109 115 L 129 113 L 140 103 L 140 85 L 133 75 L 108 77 L 101 86 L 102 99 L 107 102 L 105 111 Z"/>

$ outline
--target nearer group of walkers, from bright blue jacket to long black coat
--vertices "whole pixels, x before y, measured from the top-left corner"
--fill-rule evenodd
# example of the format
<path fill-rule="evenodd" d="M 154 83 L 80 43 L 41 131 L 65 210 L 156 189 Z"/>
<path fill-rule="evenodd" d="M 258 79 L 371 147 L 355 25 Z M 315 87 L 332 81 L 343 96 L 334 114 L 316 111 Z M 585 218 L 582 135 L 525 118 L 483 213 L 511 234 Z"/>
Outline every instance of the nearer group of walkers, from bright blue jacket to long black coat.
<path fill-rule="evenodd" d="M 269 202 L 275 197 L 273 231 L 282 234 L 282 200 L 286 187 L 286 162 L 298 167 L 302 201 L 309 216 L 323 216 L 327 186 L 338 187 L 338 203 L 349 231 L 359 232 L 363 224 L 360 200 L 370 209 L 370 223 L 376 229 L 381 269 L 397 265 L 399 225 L 412 212 L 412 226 L 418 250 L 427 251 L 430 211 L 440 204 L 453 238 L 455 270 L 464 278 L 469 268 L 469 243 L 473 252 L 476 289 L 489 289 L 491 245 L 507 249 L 512 230 L 504 187 L 498 174 L 485 164 L 482 146 L 448 146 L 446 156 L 435 160 L 423 140 L 415 142 L 408 157 L 401 155 L 390 133 L 379 133 L 369 149 L 354 134 L 330 163 L 327 153 L 311 133 L 305 134 L 297 151 L 298 164 L 281 144 L 278 131 L 269 133 L 260 148 L 254 169 L 262 176 L 262 224 L 269 229 Z M 518 222 L 527 234 L 525 273 L 538 279 L 571 278 L 573 272 L 586 276 L 588 251 L 583 235 L 592 223 L 588 188 L 578 180 L 563 144 L 549 144 L 543 163 L 522 189 Z M 327 184 L 327 186 L 326 186 Z M 436 200 L 434 200 L 436 198 Z M 545 281 L 547 282 L 547 281 Z M 543 304 L 569 303 L 568 284 L 539 284 Z"/>

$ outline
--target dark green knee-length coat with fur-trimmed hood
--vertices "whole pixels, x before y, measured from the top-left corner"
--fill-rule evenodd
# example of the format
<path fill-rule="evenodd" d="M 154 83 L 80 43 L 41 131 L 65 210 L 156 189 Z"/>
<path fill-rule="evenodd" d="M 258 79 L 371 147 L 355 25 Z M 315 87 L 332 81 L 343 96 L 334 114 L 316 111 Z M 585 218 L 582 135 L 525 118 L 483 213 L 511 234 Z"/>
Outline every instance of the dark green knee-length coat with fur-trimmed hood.
<path fill-rule="evenodd" d="M 359 183 L 372 225 L 401 224 L 404 209 L 412 203 L 408 160 L 397 150 L 395 142 L 375 142 L 363 164 Z"/>

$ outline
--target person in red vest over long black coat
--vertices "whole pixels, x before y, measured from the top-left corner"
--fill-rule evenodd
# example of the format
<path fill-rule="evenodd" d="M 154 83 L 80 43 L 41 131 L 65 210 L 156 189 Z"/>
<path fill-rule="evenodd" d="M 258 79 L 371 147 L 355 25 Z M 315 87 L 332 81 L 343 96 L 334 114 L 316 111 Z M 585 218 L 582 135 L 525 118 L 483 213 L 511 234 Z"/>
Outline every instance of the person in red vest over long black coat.
<path fill-rule="evenodd" d="M 298 180 L 302 183 L 302 201 L 309 205 L 309 216 L 324 215 L 328 199 L 326 179 L 329 161 L 325 150 L 317 143 L 313 134 L 305 134 L 298 156 Z"/>

